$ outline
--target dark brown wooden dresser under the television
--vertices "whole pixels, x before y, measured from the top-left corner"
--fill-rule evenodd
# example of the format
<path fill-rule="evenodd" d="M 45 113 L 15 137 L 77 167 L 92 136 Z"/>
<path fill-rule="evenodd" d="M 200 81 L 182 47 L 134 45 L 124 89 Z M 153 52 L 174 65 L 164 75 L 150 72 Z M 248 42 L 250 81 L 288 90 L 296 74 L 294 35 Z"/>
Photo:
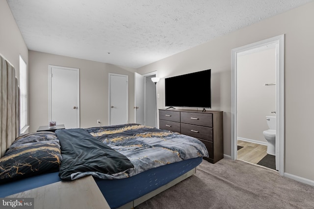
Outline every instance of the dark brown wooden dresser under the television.
<path fill-rule="evenodd" d="M 206 110 L 159 109 L 159 129 L 179 132 L 201 140 L 211 163 L 224 157 L 223 154 L 223 112 Z"/>

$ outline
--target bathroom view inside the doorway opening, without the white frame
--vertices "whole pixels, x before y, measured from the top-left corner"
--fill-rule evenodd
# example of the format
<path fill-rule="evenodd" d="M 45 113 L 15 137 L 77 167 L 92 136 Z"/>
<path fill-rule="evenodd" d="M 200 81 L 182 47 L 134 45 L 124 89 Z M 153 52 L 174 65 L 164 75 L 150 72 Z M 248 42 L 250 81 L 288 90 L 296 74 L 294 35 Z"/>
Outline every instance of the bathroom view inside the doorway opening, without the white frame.
<path fill-rule="evenodd" d="M 275 134 L 269 141 L 263 134 L 266 116 L 276 116 L 275 44 L 240 52 L 236 65 L 237 159 L 276 170 L 275 149 L 267 152 Z"/>

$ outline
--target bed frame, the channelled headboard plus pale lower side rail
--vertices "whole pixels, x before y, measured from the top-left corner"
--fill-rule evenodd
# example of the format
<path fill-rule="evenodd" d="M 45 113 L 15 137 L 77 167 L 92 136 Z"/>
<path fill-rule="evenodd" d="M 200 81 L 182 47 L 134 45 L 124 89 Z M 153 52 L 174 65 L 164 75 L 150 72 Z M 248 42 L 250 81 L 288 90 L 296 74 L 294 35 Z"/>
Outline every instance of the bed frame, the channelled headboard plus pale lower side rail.
<path fill-rule="evenodd" d="M 15 77 L 14 67 L 0 55 L 0 157 L 9 148 L 15 139 L 20 135 L 20 90 L 18 79 Z M 119 209 L 131 209 L 146 200 L 154 197 L 160 192 L 192 176 L 196 168 L 187 171 L 183 175 L 175 178 L 169 183 L 145 194 Z M 49 183 L 48 183 L 49 184 Z M 34 186 L 34 185 L 33 185 Z M 36 187 L 36 186 L 35 186 Z"/>

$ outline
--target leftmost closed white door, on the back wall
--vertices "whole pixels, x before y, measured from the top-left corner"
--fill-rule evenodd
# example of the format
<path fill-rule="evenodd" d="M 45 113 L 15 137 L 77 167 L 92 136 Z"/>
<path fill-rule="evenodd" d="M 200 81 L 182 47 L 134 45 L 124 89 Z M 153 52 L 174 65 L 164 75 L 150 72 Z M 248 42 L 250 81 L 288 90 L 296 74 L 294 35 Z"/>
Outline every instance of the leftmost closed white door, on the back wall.
<path fill-rule="evenodd" d="M 49 121 L 79 128 L 79 69 L 49 65 Z"/>

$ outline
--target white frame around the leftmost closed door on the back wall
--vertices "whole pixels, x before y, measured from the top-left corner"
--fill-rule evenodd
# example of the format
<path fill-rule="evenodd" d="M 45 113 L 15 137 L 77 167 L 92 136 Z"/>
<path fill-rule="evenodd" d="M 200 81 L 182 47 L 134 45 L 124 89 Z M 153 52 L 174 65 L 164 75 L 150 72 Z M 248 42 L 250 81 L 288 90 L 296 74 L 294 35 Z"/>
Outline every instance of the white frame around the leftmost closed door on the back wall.
<path fill-rule="evenodd" d="M 49 116 L 48 119 L 49 121 L 52 121 L 52 68 L 60 68 L 64 70 L 73 70 L 76 71 L 78 74 L 77 77 L 77 113 L 78 113 L 78 118 L 77 118 L 77 127 L 80 127 L 80 117 L 79 117 L 79 112 L 80 112 L 80 105 L 79 105 L 79 69 L 78 68 L 69 68 L 69 67 L 62 67 L 62 66 L 56 66 L 56 65 L 48 65 L 48 111 L 49 111 Z"/>

